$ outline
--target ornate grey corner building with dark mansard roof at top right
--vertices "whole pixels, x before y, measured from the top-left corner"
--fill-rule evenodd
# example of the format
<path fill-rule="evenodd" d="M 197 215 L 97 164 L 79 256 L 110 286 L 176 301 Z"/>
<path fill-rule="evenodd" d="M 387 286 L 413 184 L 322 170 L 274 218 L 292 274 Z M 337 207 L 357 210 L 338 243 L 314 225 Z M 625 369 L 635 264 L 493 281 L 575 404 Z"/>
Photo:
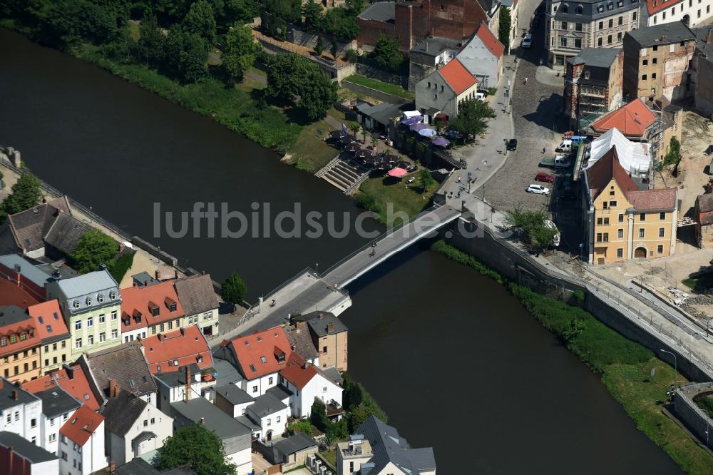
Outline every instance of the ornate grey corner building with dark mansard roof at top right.
<path fill-rule="evenodd" d="M 638 28 L 639 0 L 548 0 L 545 39 L 548 63 L 563 69 L 582 48 L 618 48 L 627 31 Z"/>

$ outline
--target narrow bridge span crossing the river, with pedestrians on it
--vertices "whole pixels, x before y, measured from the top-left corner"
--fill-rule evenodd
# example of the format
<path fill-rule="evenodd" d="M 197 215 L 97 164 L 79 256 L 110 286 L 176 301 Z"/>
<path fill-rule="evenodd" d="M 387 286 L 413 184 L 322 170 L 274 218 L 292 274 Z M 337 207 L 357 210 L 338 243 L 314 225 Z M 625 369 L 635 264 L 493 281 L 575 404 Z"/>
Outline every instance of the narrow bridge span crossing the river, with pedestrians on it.
<path fill-rule="evenodd" d="M 342 261 L 333 265 L 322 275 L 322 279 L 334 287 L 349 285 L 361 275 L 384 262 L 426 235 L 434 233 L 443 225 L 461 216 L 461 211 L 443 205 L 431 208 L 416 216 L 408 225 L 391 230 L 376 239 L 376 247 L 367 244 Z"/>

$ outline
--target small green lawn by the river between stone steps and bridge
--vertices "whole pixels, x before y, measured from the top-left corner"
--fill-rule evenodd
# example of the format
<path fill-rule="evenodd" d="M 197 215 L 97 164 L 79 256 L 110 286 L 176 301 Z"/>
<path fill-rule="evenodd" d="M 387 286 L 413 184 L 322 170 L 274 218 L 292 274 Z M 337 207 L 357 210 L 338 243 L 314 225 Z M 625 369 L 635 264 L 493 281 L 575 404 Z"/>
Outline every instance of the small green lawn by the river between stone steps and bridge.
<path fill-rule="evenodd" d="M 431 195 L 434 194 L 439 183 L 436 182 L 429 186 L 425 194 L 422 192 L 418 177 L 416 177 L 414 183 L 406 185 L 406 180 L 411 176 L 417 175 L 417 173 L 406 175 L 401 181 L 386 177 L 369 178 L 364 183 L 361 183 L 359 191 L 373 198 L 376 203 L 376 209 L 371 209 L 371 206 L 367 208 L 379 213 L 381 220 L 389 225 L 391 225 L 391 223 L 387 222 L 389 203 L 391 203 L 391 209 L 394 212 L 406 213 L 409 218 L 421 213 L 424 208 L 431 205 Z M 357 201 L 361 201 L 359 197 L 357 197 Z"/>

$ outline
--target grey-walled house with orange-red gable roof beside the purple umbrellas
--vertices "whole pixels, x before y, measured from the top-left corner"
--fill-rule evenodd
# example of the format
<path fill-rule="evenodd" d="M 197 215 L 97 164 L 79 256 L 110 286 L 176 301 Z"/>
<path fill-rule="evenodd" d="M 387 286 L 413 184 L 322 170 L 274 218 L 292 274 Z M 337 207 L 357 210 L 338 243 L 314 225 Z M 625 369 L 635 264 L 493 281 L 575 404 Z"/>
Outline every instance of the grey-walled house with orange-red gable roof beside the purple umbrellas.
<path fill-rule="evenodd" d="M 478 80 L 457 58 L 416 83 L 416 109 L 431 123 L 438 113 L 458 116 L 458 104 L 476 97 Z"/>

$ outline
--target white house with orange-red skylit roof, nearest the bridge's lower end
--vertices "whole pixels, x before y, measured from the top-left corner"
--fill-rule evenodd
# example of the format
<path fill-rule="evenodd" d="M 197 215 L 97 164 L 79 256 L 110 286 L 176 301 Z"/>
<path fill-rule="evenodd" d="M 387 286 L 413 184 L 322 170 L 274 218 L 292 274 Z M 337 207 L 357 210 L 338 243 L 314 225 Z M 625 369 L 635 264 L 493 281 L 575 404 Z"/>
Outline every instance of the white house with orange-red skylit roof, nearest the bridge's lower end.
<path fill-rule="evenodd" d="M 258 397 L 277 385 L 277 373 L 287 367 L 292 354 L 282 327 L 223 341 L 213 356 L 230 362 L 242 374 L 240 388 Z"/>

